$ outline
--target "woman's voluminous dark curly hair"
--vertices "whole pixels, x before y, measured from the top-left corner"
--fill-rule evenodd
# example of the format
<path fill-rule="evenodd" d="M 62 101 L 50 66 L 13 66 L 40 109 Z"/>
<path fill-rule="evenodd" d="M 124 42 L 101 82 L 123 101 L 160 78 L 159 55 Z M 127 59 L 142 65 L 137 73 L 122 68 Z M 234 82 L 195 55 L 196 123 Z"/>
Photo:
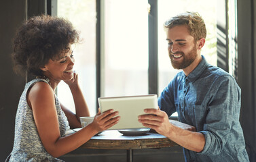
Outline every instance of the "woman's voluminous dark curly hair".
<path fill-rule="evenodd" d="M 13 41 L 14 72 L 42 76 L 40 70 L 50 59 L 67 53 L 69 44 L 79 42 L 79 33 L 68 20 L 52 16 L 34 16 L 18 28 Z"/>

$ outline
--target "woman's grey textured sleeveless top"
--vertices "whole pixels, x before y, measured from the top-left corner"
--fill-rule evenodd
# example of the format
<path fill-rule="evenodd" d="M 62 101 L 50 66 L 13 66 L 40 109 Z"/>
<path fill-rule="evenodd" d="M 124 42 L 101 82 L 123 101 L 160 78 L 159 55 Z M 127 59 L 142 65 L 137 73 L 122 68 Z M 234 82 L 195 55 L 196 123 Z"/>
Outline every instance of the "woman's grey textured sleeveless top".
<path fill-rule="evenodd" d="M 41 78 L 31 80 L 31 82 L 26 84 L 24 91 L 22 92 L 16 113 L 14 147 L 10 161 L 62 161 L 52 157 L 52 155 L 50 155 L 43 147 L 35 125 L 33 111 L 26 101 L 27 91 L 36 82 L 48 83 L 46 80 Z M 60 107 L 56 94 L 54 95 L 55 107 L 58 113 L 60 136 L 65 136 L 66 130 L 69 130 L 69 122 Z"/>

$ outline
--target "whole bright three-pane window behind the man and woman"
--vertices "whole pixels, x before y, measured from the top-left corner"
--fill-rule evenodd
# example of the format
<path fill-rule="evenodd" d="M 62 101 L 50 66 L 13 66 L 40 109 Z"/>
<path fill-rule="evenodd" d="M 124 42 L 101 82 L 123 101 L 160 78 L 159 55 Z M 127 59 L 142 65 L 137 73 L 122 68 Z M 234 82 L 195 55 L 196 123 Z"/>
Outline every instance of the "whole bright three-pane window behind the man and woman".
<path fill-rule="evenodd" d="M 99 1 L 97 1 L 99 2 Z M 147 0 L 100 1 L 100 97 L 149 93 L 149 16 Z M 198 11 L 207 29 L 206 44 L 202 55 L 208 63 L 217 65 L 217 14 L 216 1 L 159 0 L 158 1 L 158 95 L 179 72 L 174 70 L 168 58 L 166 33 L 162 24 L 185 11 Z M 75 47 L 75 70 L 79 74 L 84 97 L 91 115 L 96 114 L 96 0 L 58 1 L 58 16 L 69 19 L 84 38 Z M 100 20 L 98 20 L 100 21 Z M 150 33 L 151 34 L 151 33 Z M 151 66 L 151 65 L 150 65 Z M 152 68 L 152 67 L 151 67 Z M 71 92 L 63 82 L 58 86 L 58 97 L 74 111 Z M 174 114 L 177 115 L 177 114 Z"/>

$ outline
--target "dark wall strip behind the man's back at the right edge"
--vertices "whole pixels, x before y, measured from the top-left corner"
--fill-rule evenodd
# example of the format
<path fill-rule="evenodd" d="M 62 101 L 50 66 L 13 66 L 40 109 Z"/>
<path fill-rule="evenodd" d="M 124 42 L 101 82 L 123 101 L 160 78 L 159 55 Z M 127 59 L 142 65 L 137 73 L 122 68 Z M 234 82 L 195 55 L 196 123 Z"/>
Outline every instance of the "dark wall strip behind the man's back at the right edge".
<path fill-rule="evenodd" d="M 255 0 L 238 0 L 238 84 L 242 89 L 240 122 L 251 161 L 256 161 L 255 9 Z"/>

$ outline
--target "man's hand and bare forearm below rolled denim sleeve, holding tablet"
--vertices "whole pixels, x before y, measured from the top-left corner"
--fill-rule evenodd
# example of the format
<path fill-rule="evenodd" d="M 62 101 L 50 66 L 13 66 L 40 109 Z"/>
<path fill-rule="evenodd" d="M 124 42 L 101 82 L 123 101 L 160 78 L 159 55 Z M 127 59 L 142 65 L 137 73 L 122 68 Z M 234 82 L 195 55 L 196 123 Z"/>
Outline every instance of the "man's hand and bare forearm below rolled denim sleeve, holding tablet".
<path fill-rule="evenodd" d="M 160 109 L 145 109 L 145 115 L 139 115 L 139 122 L 143 126 L 156 130 L 177 144 L 191 151 L 201 152 L 204 148 L 205 138 L 196 128 L 179 121 L 169 120 L 168 115 Z M 193 140 L 191 140 L 193 139 Z"/>

